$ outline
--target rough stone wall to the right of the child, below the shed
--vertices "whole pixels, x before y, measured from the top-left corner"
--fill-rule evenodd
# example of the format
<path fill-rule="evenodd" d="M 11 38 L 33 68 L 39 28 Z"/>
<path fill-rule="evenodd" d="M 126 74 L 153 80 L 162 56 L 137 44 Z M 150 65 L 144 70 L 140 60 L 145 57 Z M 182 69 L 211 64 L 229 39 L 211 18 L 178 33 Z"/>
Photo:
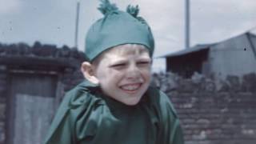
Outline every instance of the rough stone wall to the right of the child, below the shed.
<path fill-rule="evenodd" d="M 154 74 L 182 122 L 186 144 L 256 143 L 256 74 L 225 80 Z"/>

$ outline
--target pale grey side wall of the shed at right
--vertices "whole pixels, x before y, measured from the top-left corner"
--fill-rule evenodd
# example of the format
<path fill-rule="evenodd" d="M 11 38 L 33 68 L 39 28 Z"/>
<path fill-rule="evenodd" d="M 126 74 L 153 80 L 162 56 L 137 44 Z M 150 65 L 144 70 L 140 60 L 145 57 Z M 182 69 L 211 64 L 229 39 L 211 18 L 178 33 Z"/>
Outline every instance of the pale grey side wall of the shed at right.
<path fill-rule="evenodd" d="M 209 61 L 211 72 L 220 78 L 256 72 L 256 59 L 246 34 L 212 46 Z"/>

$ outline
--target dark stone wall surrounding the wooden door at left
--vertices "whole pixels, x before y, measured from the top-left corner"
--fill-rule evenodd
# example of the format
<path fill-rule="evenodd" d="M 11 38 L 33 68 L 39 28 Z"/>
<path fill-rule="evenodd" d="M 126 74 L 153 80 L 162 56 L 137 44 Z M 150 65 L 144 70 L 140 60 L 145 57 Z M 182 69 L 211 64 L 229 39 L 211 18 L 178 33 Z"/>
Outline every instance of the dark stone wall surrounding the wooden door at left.
<path fill-rule="evenodd" d="M 67 46 L 34 46 L 26 44 L 0 44 L 0 144 L 7 143 L 10 136 L 10 79 L 12 74 L 49 74 L 58 78 L 54 97 L 56 110 L 67 90 L 83 81 L 80 72 L 84 54 Z M 56 77 L 54 77 L 56 78 Z M 36 107 L 35 107 L 36 109 Z"/>

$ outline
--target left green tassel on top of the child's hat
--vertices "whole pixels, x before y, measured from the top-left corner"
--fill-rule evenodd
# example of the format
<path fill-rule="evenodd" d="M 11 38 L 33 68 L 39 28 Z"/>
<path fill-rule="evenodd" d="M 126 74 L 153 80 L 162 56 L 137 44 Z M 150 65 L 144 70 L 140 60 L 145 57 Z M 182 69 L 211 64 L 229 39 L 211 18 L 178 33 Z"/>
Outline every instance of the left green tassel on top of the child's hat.
<path fill-rule="evenodd" d="M 98 10 L 102 12 L 102 14 L 110 14 L 113 11 L 118 10 L 118 7 L 114 3 L 110 3 L 109 0 L 100 0 L 102 3 L 98 7 Z"/>

